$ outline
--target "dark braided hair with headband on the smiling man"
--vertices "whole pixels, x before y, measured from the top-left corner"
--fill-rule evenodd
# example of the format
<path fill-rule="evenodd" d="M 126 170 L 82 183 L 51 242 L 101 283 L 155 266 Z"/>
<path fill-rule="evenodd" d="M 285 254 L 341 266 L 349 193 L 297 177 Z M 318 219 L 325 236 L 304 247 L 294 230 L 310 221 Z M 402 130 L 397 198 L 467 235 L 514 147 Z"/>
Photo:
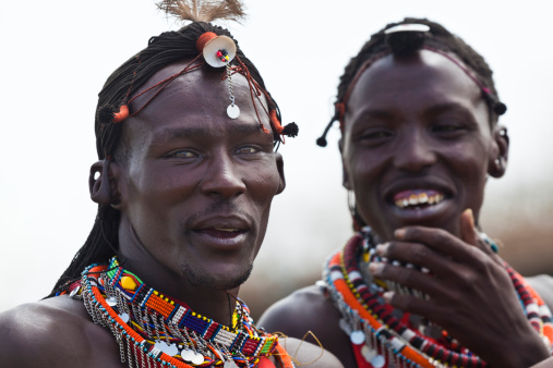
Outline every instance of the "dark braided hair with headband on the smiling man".
<path fill-rule="evenodd" d="M 428 33 L 400 32 L 386 34 L 387 29 L 405 24 L 422 24 L 430 29 Z M 389 53 L 397 57 L 408 56 L 420 50 L 423 45 L 437 52 L 455 54 L 468 70 L 470 70 L 471 74 L 476 77 L 474 82 L 485 90 L 483 97 L 490 109 L 490 123 L 495 124 L 498 115 L 505 113 L 507 108 L 504 103 L 500 102 L 495 83 L 492 77 L 493 72 L 484 58 L 461 38 L 449 33 L 441 24 L 431 22 L 426 19 L 406 17 L 401 22 L 389 23 L 383 29 L 373 34 L 363 45 L 359 53 L 351 58 L 346 65 L 338 85 L 335 114 L 326 126 L 323 135 L 317 139 L 317 145 L 322 147 L 326 146 L 326 134 L 335 121 L 340 120 L 340 128 L 344 128 L 342 106 L 347 99 L 348 91 L 350 91 L 351 84 L 354 84 L 359 71 L 364 65 Z"/>

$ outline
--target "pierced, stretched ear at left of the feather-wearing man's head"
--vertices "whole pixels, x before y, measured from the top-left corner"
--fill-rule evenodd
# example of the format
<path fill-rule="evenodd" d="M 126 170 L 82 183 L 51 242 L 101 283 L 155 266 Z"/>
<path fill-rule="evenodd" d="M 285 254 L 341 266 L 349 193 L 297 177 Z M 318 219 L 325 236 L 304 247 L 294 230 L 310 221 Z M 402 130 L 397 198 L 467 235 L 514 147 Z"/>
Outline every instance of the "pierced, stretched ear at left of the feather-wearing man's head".
<path fill-rule="evenodd" d="M 92 164 L 88 189 L 93 201 L 117 208 L 120 203 L 120 195 L 113 171 L 118 171 L 118 168 L 119 165 L 112 162 L 110 158 Z"/>

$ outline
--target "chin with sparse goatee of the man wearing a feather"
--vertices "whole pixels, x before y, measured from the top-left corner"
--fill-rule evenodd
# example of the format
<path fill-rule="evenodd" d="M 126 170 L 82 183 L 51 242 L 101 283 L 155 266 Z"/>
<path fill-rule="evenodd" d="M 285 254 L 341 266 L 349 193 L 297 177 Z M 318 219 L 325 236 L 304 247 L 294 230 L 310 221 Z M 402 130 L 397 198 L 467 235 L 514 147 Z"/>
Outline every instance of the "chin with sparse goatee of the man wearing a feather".
<path fill-rule="evenodd" d="M 181 267 L 181 274 L 192 286 L 227 291 L 237 289 L 243 284 L 250 278 L 252 268 L 253 265 L 250 263 L 245 269 L 233 268 L 229 272 L 221 274 L 220 270 L 216 273 L 209 273 L 205 270 L 194 269 L 190 265 L 183 265 Z"/>

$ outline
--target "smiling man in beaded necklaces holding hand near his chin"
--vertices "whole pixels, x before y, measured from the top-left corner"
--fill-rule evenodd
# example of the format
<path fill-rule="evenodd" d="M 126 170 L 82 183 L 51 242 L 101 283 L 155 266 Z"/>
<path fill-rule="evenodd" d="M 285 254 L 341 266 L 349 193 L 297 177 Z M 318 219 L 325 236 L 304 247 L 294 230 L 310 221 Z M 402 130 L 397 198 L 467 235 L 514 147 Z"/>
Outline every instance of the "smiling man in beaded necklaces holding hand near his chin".
<path fill-rule="evenodd" d="M 506 169 L 505 111 L 483 58 L 440 24 L 407 19 L 373 35 L 329 124 L 340 124 L 357 233 L 321 286 L 260 326 L 311 330 L 346 367 L 521 368 L 551 356 L 551 279 L 532 289 L 478 221 L 488 177 Z"/>

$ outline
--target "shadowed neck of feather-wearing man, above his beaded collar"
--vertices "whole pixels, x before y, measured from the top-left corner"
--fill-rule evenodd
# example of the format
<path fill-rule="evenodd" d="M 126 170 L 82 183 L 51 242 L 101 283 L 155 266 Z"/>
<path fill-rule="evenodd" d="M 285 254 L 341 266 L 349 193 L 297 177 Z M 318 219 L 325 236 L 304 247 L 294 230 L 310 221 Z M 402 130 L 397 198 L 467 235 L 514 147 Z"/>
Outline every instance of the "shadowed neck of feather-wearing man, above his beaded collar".
<path fill-rule="evenodd" d="M 231 324 L 239 287 L 216 290 L 191 284 L 185 277 L 156 259 L 137 238 L 132 226 L 119 226 L 118 259 L 122 268 L 135 273 L 147 286 L 185 303 L 195 312 L 218 323 Z"/>

